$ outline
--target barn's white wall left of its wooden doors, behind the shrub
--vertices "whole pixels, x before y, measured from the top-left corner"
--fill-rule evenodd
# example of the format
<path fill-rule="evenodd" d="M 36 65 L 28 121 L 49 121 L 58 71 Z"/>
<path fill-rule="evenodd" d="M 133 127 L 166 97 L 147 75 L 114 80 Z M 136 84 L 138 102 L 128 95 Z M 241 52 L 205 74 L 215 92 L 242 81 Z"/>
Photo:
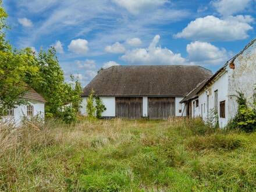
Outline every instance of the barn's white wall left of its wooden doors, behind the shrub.
<path fill-rule="evenodd" d="M 86 116 L 86 105 L 87 105 L 87 98 L 83 97 L 81 102 L 80 113 L 81 115 Z M 102 99 L 103 104 L 106 107 L 106 111 L 102 113 L 104 117 L 115 117 L 116 116 L 116 102 L 115 97 L 99 97 Z"/>

